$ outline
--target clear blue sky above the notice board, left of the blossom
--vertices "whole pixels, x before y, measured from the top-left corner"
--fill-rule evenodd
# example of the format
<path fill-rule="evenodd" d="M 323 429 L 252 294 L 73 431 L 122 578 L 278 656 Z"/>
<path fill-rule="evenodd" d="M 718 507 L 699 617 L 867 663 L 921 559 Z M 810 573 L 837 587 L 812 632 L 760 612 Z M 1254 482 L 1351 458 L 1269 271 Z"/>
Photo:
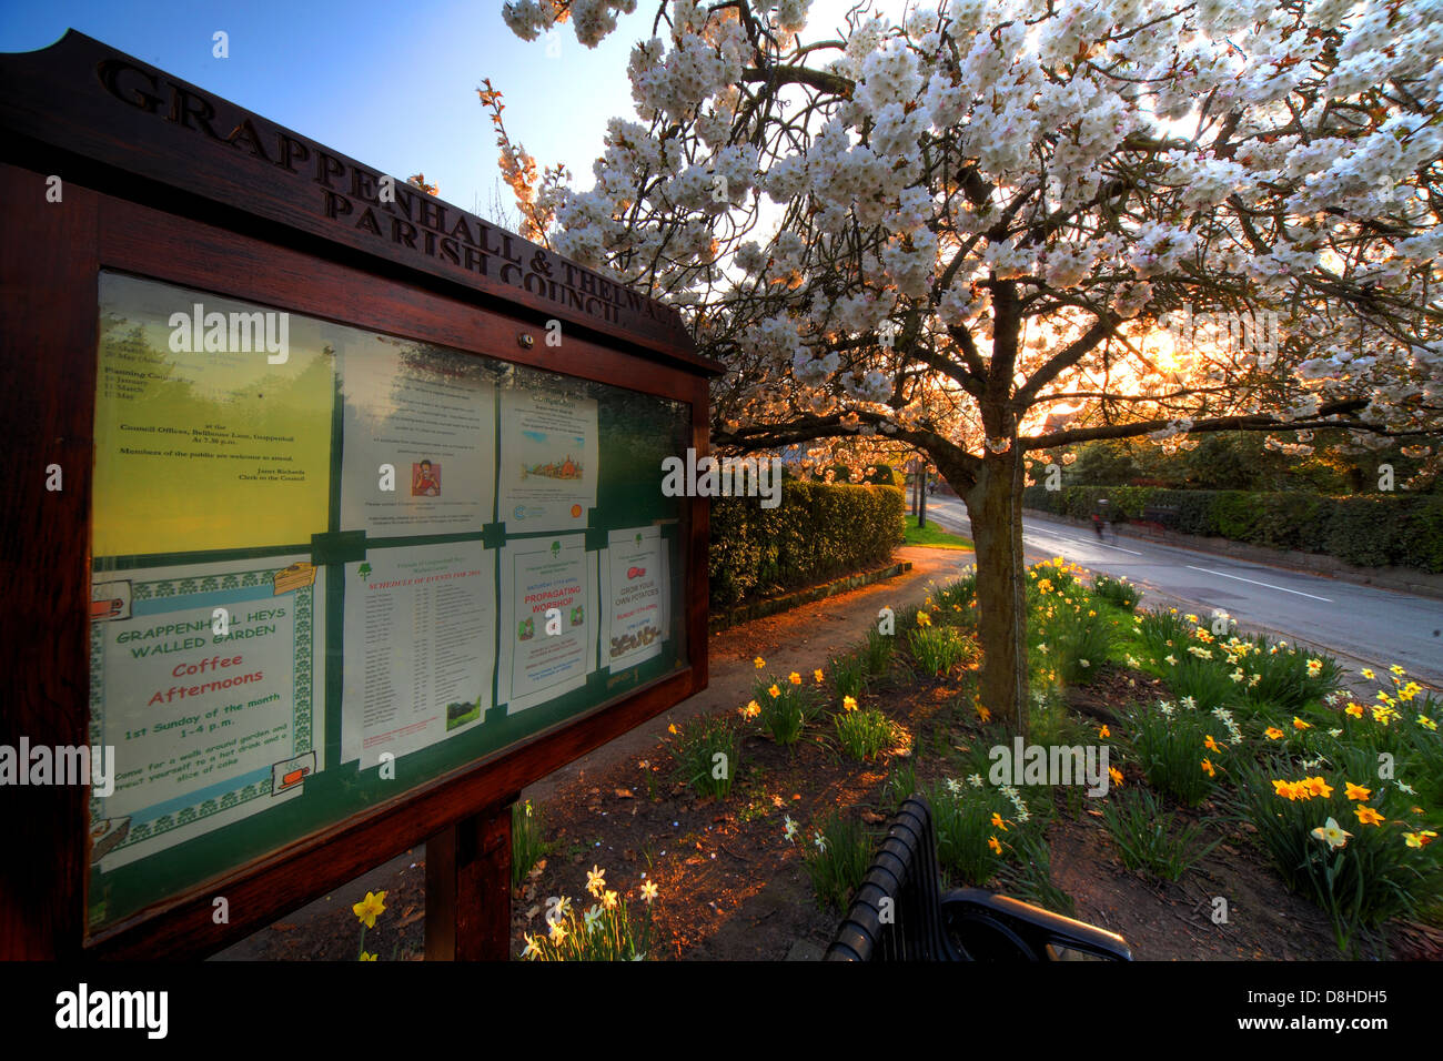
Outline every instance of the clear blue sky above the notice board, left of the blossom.
<path fill-rule="evenodd" d="M 626 58 L 651 36 L 651 4 L 599 48 L 570 27 L 560 55 L 524 42 L 499 0 L 46 0 L 0 3 L 0 51 L 26 52 L 76 29 L 401 179 L 424 172 L 440 198 L 491 215 L 496 146 L 476 100 L 505 92 L 511 136 L 540 165 L 566 162 L 592 183 L 609 117 L 631 117 Z M 229 35 L 229 58 L 211 55 Z M 509 189 L 501 186 L 508 209 Z"/>

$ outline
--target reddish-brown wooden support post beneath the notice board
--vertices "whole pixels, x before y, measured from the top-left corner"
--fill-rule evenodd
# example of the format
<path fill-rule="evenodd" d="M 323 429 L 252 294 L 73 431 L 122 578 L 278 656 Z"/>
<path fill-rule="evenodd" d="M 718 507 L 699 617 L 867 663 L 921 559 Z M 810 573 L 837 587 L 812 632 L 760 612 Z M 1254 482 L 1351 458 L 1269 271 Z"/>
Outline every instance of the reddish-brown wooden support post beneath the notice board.
<path fill-rule="evenodd" d="M 426 960 L 511 957 L 511 804 L 489 807 L 426 842 Z"/>

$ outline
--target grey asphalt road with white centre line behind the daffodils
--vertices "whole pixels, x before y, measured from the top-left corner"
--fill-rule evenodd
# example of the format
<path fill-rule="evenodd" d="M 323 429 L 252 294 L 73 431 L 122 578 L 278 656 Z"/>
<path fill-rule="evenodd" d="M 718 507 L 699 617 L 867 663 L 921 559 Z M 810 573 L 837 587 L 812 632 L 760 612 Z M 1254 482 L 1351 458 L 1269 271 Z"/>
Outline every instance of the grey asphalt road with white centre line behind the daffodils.
<path fill-rule="evenodd" d="M 942 527 L 970 533 L 967 507 L 958 498 L 929 497 L 926 511 Z M 1443 689 L 1443 601 L 1127 534 L 1098 541 L 1087 527 L 1033 515 L 1023 520 L 1022 543 L 1029 562 L 1062 556 L 1092 572 L 1126 575 L 1128 582 L 1153 590 L 1153 603 L 1160 595 L 1185 602 L 1199 615 L 1221 608 L 1244 628 L 1276 631 L 1380 673 L 1398 664 L 1418 683 Z"/>

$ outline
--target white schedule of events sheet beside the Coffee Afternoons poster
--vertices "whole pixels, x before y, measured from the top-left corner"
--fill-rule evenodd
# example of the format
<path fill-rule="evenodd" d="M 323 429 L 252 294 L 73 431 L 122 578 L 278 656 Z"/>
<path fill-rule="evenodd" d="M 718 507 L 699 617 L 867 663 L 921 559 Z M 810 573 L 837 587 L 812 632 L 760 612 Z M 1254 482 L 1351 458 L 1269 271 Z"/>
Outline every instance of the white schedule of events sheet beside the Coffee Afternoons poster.
<path fill-rule="evenodd" d="M 481 723 L 495 673 L 495 566 L 479 541 L 346 564 L 341 758 L 380 762 Z"/>

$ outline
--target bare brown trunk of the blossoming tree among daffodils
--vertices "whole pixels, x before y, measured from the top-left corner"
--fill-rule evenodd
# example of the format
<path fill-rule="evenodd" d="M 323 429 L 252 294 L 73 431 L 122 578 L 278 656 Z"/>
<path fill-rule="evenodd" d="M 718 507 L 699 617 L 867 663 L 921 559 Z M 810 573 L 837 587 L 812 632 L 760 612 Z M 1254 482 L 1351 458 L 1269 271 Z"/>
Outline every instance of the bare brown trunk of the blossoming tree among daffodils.
<path fill-rule="evenodd" d="M 977 547 L 977 634 L 983 650 L 981 706 L 1027 730 L 1027 626 L 1022 559 L 1022 453 L 987 452 L 962 494 Z"/>

